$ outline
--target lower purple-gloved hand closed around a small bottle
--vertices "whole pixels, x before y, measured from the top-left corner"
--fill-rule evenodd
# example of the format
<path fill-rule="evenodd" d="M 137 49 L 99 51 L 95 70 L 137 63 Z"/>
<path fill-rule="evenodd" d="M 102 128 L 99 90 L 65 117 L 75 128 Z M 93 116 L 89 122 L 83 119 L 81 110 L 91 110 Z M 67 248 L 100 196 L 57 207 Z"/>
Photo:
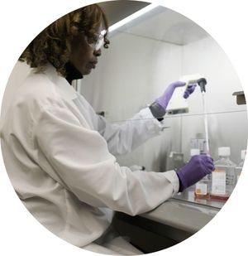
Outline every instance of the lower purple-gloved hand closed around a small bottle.
<path fill-rule="evenodd" d="M 184 191 L 188 186 L 200 181 L 203 176 L 210 174 L 214 170 L 212 157 L 208 155 L 193 156 L 189 162 L 179 169 L 177 175 L 179 177 L 179 192 Z"/>

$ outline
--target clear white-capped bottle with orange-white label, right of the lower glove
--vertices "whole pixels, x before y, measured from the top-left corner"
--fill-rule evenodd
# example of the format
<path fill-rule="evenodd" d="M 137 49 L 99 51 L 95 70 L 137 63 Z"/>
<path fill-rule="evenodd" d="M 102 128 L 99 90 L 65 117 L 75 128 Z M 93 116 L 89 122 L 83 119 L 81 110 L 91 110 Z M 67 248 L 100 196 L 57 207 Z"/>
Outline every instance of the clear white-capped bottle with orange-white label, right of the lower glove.
<path fill-rule="evenodd" d="M 230 160 L 230 147 L 219 147 L 219 159 L 214 162 L 215 170 L 212 171 L 211 197 L 227 200 L 236 185 L 236 164 Z"/>

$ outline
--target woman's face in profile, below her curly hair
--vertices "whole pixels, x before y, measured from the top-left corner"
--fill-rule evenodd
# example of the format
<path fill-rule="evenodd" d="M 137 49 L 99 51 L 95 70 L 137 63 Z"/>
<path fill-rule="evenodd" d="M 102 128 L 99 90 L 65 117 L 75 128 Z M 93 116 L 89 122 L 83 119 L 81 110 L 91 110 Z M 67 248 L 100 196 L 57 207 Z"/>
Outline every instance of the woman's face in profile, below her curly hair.
<path fill-rule="evenodd" d="M 98 32 L 102 31 L 102 26 Z M 98 56 L 101 56 L 101 49 L 96 51 L 92 44 L 88 44 L 88 38 L 83 33 L 75 36 L 71 44 L 69 61 L 79 70 L 82 75 L 88 75 L 98 64 Z"/>

